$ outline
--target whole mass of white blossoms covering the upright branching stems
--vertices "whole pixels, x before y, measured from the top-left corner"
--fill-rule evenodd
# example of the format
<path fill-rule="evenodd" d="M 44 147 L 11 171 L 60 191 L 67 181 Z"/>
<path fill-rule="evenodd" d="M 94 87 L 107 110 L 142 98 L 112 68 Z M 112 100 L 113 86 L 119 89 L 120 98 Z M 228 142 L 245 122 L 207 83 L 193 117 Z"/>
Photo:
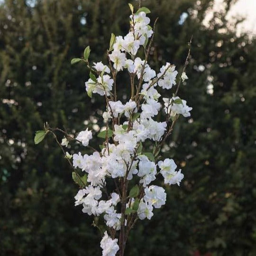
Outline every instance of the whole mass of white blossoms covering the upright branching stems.
<path fill-rule="evenodd" d="M 179 115 L 189 117 L 192 110 L 176 96 L 177 92 L 173 97 L 161 98 L 159 91 L 176 86 L 178 72 L 170 63 L 163 65 L 159 73 L 149 66 L 146 47 L 150 47 L 154 34 L 146 17 L 149 10 L 141 8 L 134 13 L 130 8 L 130 30 L 125 37 L 112 34 L 109 64 L 98 62 L 90 66 L 85 60 L 91 69 L 90 79 L 85 82 L 88 95 L 97 93 L 106 99 L 102 115 L 106 129 L 100 133 L 105 140 L 103 147 L 92 155 L 73 155 L 73 167 L 86 176 L 75 196 L 75 205 L 82 205 L 84 213 L 102 216 L 107 226 L 108 233 L 101 240 L 103 256 L 114 256 L 118 251 L 123 255 L 127 234 L 137 219 L 151 219 L 154 208 L 165 204 L 165 189 L 152 184 L 158 174 L 166 185 L 180 185 L 183 174 L 176 171 L 174 160 L 155 159 Z M 145 48 L 145 60 L 136 56 L 140 47 Z M 117 74 L 125 70 L 130 76 L 131 95 L 127 102 L 121 102 L 117 100 Z M 188 77 L 183 72 L 179 83 L 185 79 Z M 166 114 L 164 121 L 155 119 L 159 111 Z M 91 138 L 87 128 L 76 141 L 88 146 Z M 145 141 L 154 145 L 153 152 L 146 152 Z M 67 140 L 62 143 L 67 146 Z M 110 187 L 112 191 L 108 191 Z"/>

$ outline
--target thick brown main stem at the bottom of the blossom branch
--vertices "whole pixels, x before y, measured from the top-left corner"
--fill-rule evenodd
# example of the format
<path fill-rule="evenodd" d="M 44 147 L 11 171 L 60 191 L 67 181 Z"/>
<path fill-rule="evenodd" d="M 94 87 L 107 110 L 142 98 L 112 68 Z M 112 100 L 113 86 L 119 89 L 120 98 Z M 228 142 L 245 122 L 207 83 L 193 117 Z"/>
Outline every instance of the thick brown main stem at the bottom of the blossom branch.
<path fill-rule="evenodd" d="M 121 200 L 121 227 L 120 227 L 120 235 L 119 235 L 119 256 L 124 256 L 124 250 L 125 250 L 126 200 L 127 200 L 127 179 L 124 178 L 123 191 L 122 191 L 122 200 Z"/>

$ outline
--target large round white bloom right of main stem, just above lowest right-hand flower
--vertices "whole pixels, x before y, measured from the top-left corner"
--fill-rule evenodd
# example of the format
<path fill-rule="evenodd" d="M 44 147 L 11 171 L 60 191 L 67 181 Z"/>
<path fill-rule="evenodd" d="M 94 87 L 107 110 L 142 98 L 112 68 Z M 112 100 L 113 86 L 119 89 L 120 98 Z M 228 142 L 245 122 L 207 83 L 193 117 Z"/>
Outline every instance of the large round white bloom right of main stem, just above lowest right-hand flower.
<path fill-rule="evenodd" d="M 155 208 L 160 208 L 166 201 L 165 190 L 155 185 L 146 187 L 144 200 L 145 202 L 151 203 Z"/>

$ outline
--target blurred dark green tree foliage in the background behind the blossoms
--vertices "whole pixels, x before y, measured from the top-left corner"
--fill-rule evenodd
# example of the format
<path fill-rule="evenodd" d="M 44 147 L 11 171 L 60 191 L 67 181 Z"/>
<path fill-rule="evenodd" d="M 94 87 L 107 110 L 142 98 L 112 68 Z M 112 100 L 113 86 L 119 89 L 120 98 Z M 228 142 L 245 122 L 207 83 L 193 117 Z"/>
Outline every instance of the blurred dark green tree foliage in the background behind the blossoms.
<path fill-rule="evenodd" d="M 256 255 L 256 42 L 228 26 L 233 2 L 204 26 L 210 0 L 142 1 L 152 22 L 159 17 L 156 70 L 166 61 L 181 68 L 193 34 L 190 79 L 180 93 L 193 110 L 163 152 L 183 169 L 181 188 L 166 187 L 165 207 L 138 222 L 127 255 Z M 92 219 L 73 206 L 77 187 L 62 152 L 52 137 L 37 146 L 33 137 L 46 121 L 73 133 L 101 126 L 103 101 L 88 98 L 88 70 L 70 60 L 90 45 L 91 60 L 106 61 L 110 32 L 128 30 L 127 4 L 0 4 L 0 255 L 101 255 Z"/>

